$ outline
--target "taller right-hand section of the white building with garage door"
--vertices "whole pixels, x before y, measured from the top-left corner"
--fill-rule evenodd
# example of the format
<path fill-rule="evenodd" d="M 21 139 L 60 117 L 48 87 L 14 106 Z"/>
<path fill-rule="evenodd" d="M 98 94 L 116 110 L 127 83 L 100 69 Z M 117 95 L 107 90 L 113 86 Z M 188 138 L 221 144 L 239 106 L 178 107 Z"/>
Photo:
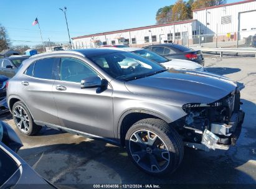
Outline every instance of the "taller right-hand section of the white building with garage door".
<path fill-rule="evenodd" d="M 256 1 L 240 1 L 193 10 L 197 29 L 203 34 L 240 33 L 240 38 L 256 34 Z"/>

